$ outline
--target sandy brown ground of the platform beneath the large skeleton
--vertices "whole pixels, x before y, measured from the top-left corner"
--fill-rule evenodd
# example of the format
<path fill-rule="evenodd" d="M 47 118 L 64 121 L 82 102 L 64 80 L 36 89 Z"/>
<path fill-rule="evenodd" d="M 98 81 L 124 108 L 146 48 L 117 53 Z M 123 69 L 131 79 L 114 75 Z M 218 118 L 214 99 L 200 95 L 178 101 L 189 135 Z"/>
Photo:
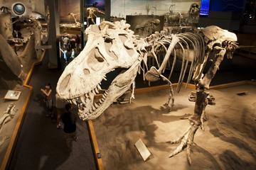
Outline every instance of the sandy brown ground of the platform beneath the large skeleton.
<path fill-rule="evenodd" d="M 163 108 L 167 90 L 139 94 L 132 104 L 112 105 L 95 120 L 95 132 L 105 169 L 256 169 L 256 86 L 210 90 L 215 106 L 207 106 L 205 131 L 196 132 L 192 164 L 186 152 L 168 155 L 178 145 L 166 143 L 189 126 L 193 113 L 191 89 L 175 94 L 174 111 Z M 236 93 L 247 91 L 247 95 Z M 142 139 L 152 154 L 143 161 L 134 143 Z"/>

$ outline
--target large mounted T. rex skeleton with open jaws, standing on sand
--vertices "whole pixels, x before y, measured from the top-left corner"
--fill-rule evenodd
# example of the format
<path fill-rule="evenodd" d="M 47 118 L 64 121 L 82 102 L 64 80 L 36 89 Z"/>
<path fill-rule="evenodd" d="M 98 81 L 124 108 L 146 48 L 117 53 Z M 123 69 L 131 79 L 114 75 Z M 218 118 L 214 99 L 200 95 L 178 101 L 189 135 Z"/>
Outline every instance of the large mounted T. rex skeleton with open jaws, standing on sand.
<path fill-rule="evenodd" d="M 137 39 L 129 24 L 121 22 L 102 22 L 100 26 L 92 25 L 86 29 L 88 41 L 80 55 L 65 68 L 57 84 L 57 93 L 70 103 L 78 105 L 78 114 L 82 120 L 97 118 L 114 101 L 122 96 L 134 82 L 137 72 L 143 72 L 144 79 L 158 81 L 163 79 L 170 86 L 169 100 L 166 105 L 174 106 L 174 89 L 170 78 L 174 71 L 176 60 L 182 61 L 181 73 L 178 79 L 177 91 L 190 64 L 187 83 L 193 79 L 196 83 L 196 104 L 193 115 L 188 118 L 190 127 L 186 132 L 171 143 L 180 143 L 169 157 L 187 148 L 188 162 L 191 163 L 191 145 L 193 137 L 199 127 L 203 129 L 205 108 L 208 104 L 210 81 L 217 72 L 220 62 L 226 54 L 232 57 L 237 37 L 234 33 L 223 30 L 218 26 L 209 26 L 198 33 L 180 33 L 166 35 L 164 31 L 150 35 L 147 38 Z M 157 60 L 159 52 L 165 52 L 164 60 Z M 203 75 L 203 69 L 208 61 L 209 54 L 213 52 L 215 58 L 208 72 Z M 147 58 L 154 57 L 156 67 L 151 67 L 148 72 Z M 169 77 L 162 73 L 169 62 L 169 57 L 174 57 Z M 99 101 L 94 99 L 101 90 L 101 81 L 107 80 L 106 74 L 114 69 L 121 68 L 122 72 L 112 81 Z M 134 94 L 132 93 L 132 97 Z"/>

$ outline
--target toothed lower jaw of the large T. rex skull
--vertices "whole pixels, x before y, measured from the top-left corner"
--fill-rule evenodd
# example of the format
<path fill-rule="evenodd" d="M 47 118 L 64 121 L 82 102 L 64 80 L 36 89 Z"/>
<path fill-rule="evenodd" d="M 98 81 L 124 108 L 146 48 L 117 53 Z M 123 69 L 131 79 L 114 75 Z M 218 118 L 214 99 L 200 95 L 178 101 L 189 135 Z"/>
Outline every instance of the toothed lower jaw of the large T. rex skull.
<path fill-rule="evenodd" d="M 135 65 L 135 67 L 134 67 Z M 99 100 L 95 100 L 98 89 L 92 89 L 75 100 L 68 100 L 78 106 L 78 115 L 82 120 L 92 120 L 99 117 L 114 101 L 129 90 L 138 71 L 138 62 L 126 71 L 114 78 L 110 87 L 102 94 Z"/>

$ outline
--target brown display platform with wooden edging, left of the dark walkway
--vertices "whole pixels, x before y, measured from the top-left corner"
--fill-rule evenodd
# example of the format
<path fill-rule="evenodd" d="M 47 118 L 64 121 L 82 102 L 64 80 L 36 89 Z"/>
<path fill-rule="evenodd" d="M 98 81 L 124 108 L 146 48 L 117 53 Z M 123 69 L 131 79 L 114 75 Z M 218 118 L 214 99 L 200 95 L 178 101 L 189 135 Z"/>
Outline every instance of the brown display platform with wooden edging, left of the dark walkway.
<path fill-rule="evenodd" d="M 4 112 L 11 103 L 13 103 L 17 109 L 13 118 L 1 124 L 2 129 L 0 133 L 0 141 L 2 145 L 0 145 L 0 169 L 6 169 L 11 159 L 11 154 L 14 151 L 16 140 L 18 138 L 19 131 L 21 130 L 23 118 L 25 116 L 26 108 L 28 107 L 28 103 L 33 90 L 33 87 L 28 85 L 28 81 L 31 79 L 34 67 L 38 64 L 41 64 L 45 56 L 45 52 L 45 50 L 38 50 L 38 59 L 34 60 L 31 68 L 28 70 L 28 72 L 25 72 L 26 79 L 24 79 L 23 85 L 17 85 L 16 88 L 12 89 L 14 91 L 21 92 L 18 100 L 6 100 L 6 93 L 8 90 L 0 90 L 0 118 L 4 118 Z"/>

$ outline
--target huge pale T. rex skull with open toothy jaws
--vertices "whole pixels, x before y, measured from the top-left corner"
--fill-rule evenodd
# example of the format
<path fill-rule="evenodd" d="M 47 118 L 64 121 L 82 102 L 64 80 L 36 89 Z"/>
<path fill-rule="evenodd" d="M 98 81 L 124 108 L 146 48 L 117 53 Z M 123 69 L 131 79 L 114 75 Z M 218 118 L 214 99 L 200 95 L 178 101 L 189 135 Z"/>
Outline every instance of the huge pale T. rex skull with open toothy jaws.
<path fill-rule="evenodd" d="M 134 47 L 133 32 L 125 21 L 91 25 L 85 33 L 88 35 L 85 48 L 65 68 L 56 90 L 60 98 L 78 105 L 82 120 L 90 120 L 97 118 L 130 88 L 140 60 Z M 94 96 L 101 90 L 101 81 L 116 68 L 122 68 L 124 72 L 112 81 L 96 103 Z"/>

